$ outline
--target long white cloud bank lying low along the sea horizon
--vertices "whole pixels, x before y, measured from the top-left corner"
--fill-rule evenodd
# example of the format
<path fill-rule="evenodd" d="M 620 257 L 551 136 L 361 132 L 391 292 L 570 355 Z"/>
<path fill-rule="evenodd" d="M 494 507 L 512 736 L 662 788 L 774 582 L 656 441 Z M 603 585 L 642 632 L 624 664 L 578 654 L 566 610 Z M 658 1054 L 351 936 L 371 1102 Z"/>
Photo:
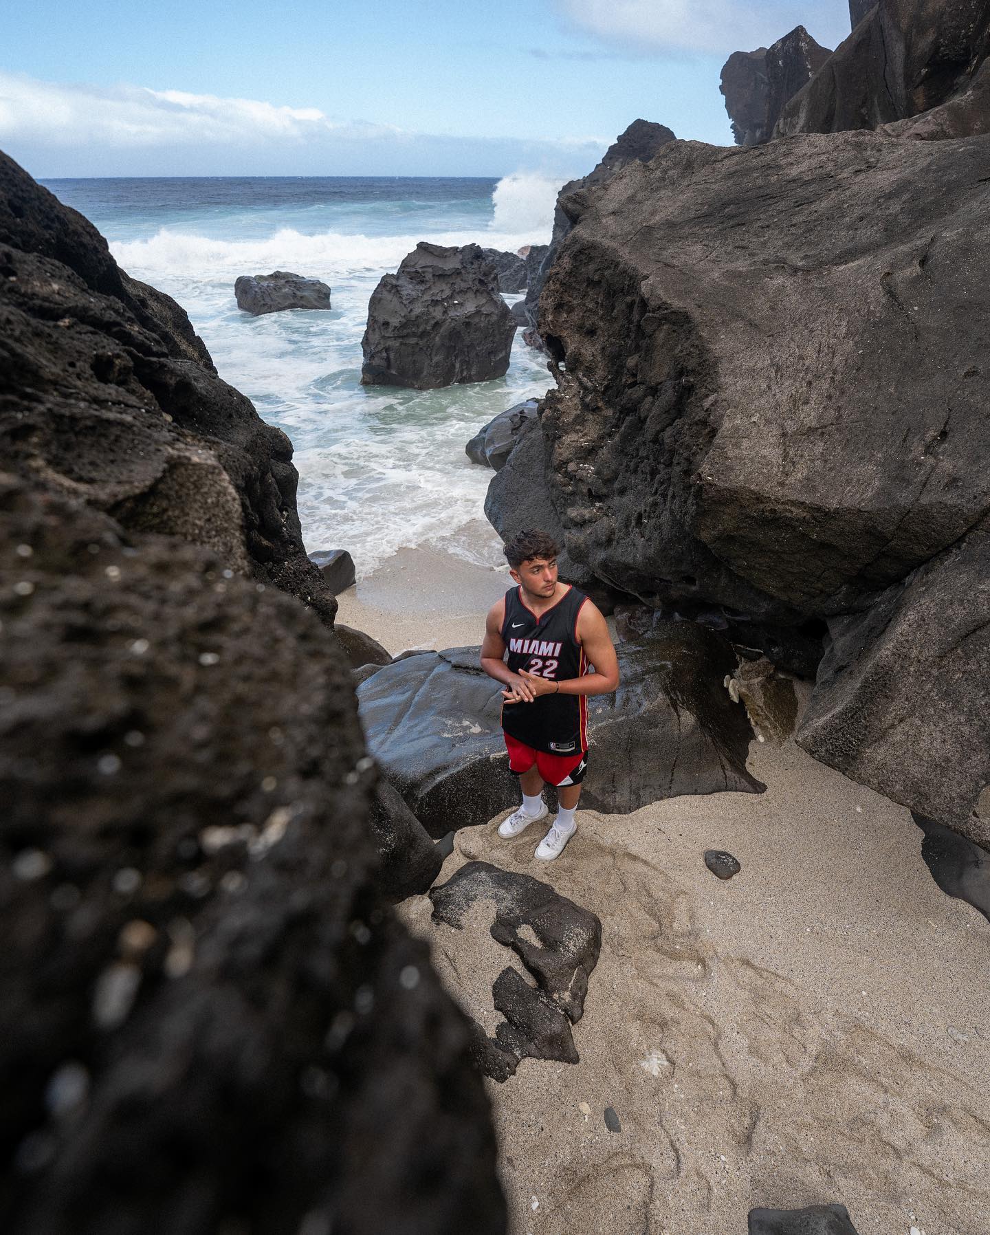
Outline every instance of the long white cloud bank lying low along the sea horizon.
<path fill-rule="evenodd" d="M 36 175 L 501 175 L 589 170 L 607 141 L 443 137 L 318 107 L 0 70 L 0 147 Z"/>

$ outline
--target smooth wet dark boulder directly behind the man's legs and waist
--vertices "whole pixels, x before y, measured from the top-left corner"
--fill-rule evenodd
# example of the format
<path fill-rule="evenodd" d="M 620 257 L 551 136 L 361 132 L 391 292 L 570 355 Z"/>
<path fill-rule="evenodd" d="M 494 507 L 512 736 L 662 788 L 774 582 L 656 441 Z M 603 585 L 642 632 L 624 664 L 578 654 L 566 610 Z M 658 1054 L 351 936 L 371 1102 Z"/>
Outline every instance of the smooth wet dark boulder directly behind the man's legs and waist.
<path fill-rule="evenodd" d="M 431 836 L 488 823 L 518 802 L 496 682 L 476 647 L 412 656 L 358 687 L 368 747 Z M 736 657 L 693 622 L 618 648 L 618 690 L 588 701 L 591 771 L 581 803 L 628 814 L 685 793 L 759 793 L 746 768 L 752 730 L 725 689 Z M 538 705 L 537 705 L 538 706 Z"/>

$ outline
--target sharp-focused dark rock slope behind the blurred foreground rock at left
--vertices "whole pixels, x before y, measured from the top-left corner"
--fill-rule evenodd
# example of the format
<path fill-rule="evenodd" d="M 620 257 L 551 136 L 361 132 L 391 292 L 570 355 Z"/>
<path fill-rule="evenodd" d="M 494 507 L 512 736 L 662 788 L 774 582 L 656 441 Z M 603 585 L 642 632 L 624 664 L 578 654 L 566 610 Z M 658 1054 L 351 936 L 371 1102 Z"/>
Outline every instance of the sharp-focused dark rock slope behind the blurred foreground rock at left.
<path fill-rule="evenodd" d="M 327 624 L 293 443 L 222 382 L 169 296 L 0 154 L 0 448 L 133 532 L 204 545 Z"/>

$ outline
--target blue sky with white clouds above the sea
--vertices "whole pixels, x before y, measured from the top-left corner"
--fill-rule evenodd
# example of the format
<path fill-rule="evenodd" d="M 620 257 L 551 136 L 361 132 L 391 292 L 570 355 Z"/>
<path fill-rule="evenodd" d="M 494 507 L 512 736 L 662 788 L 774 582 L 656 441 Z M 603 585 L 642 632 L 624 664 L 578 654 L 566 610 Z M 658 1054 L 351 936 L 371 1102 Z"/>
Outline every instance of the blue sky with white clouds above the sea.
<path fill-rule="evenodd" d="M 0 148 L 35 177 L 590 169 L 637 117 L 732 141 L 733 51 L 847 0 L 10 0 Z"/>

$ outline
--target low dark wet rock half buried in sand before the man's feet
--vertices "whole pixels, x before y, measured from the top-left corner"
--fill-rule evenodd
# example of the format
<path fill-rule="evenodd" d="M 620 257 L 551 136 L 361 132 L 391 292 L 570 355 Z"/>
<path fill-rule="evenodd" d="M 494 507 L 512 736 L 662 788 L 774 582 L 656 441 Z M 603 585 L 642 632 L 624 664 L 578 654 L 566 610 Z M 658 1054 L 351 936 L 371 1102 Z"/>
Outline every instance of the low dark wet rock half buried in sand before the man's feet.
<path fill-rule="evenodd" d="M 476 1025 L 474 1051 L 486 1076 L 505 1081 L 523 1058 L 579 1060 L 570 1026 L 584 1011 L 588 979 L 601 950 L 599 919 L 528 874 L 488 862 L 462 866 L 430 893 L 433 920 L 463 929 L 472 905 L 491 902 L 491 937 L 511 947 L 536 986 L 515 968 L 493 988 L 506 1019 L 490 1039 Z"/>

